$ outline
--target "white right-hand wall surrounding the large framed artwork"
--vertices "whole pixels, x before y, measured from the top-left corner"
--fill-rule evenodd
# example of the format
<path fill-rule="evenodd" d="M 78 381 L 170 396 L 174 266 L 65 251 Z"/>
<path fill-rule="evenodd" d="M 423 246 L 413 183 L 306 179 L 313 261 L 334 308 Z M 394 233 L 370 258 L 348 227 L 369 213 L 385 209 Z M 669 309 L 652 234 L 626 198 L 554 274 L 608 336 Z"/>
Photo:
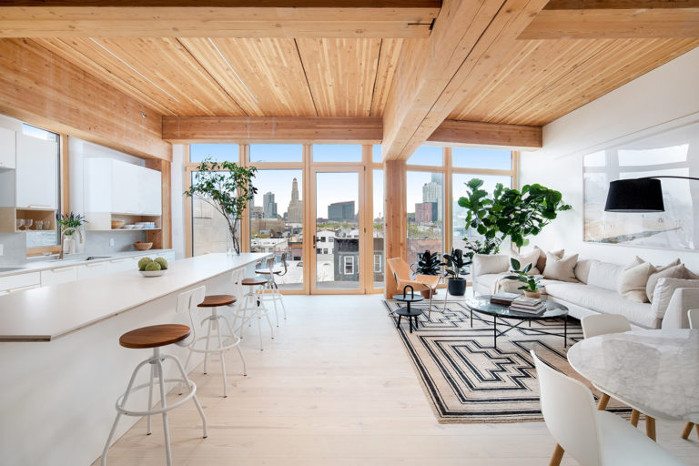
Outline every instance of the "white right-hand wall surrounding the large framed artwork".
<path fill-rule="evenodd" d="M 699 48 L 546 125 L 543 148 L 522 153 L 519 182 L 561 191 L 573 210 L 563 212 L 532 244 L 618 264 L 636 255 L 656 264 L 679 257 L 687 267 L 699 270 L 699 254 L 694 252 L 582 241 L 582 156 L 626 139 L 699 121 L 697 83 Z"/>

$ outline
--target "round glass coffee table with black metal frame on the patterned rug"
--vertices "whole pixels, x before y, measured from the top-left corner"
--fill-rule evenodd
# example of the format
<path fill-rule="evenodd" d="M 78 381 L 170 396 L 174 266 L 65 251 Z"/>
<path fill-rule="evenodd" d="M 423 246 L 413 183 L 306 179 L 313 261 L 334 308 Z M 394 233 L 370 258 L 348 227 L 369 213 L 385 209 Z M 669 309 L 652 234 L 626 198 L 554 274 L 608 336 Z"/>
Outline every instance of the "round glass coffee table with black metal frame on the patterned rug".
<path fill-rule="evenodd" d="M 504 335 L 512 329 L 517 329 L 524 322 L 531 322 L 532 320 L 552 320 L 563 318 L 563 334 L 554 333 L 550 331 L 544 331 L 540 329 L 530 329 L 536 333 L 542 333 L 544 335 L 553 335 L 556 337 L 563 338 L 563 348 L 568 346 L 568 308 L 559 304 L 557 302 L 542 299 L 546 303 L 546 309 L 538 314 L 530 314 L 528 312 L 518 312 L 516 310 L 510 310 L 509 306 L 502 304 L 491 303 L 491 297 L 489 295 L 476 296 L 475 298 L 467 299 L 466 306 L 471 309 L 471 327 L 473 327 L 473 312 L 478 312 L 479 314 L 484 314 L 492 317 L 492 346 L 493 348 L 498 347 L 498 337 Z M 503 331 L 498 330 L 498 319 L 500 319 L 501 324 L 508 327 Z M 518 320 L 517 323 L 512 324 L 512 322 L 505 320 Z M 490 329 L 487 329 L 490 330 Z"/>

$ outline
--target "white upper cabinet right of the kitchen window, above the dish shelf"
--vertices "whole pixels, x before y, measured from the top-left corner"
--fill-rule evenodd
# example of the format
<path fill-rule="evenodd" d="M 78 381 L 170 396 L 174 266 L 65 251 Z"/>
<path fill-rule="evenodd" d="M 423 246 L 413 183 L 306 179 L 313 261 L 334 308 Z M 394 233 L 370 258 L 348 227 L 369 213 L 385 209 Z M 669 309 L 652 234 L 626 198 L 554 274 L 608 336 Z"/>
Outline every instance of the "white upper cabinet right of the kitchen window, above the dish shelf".
<path fill-rule="evenodd" d="M 86 213 L 161 214 L 160 172 L 112 158 L 85 160 Z"/>

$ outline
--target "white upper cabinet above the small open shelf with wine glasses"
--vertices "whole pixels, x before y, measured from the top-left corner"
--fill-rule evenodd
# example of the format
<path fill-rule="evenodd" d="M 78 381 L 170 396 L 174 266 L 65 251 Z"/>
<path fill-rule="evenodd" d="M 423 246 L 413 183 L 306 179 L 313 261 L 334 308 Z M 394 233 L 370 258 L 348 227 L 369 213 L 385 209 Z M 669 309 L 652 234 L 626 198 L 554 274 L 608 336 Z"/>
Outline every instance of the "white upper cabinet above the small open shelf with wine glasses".
<path fill-rule="evenodd" d="M 56 141 L 16 135 L 15 207 L 57 208 L 57 154 Z"/>

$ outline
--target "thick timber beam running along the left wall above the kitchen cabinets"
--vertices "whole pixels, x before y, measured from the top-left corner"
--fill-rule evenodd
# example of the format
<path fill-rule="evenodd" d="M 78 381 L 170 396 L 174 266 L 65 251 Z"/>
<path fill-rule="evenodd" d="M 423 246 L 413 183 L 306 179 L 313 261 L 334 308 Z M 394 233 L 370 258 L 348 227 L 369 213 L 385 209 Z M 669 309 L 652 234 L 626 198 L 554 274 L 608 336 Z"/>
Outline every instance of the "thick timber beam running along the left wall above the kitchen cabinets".
<path fill-rule="evenodd" d="M 135 156 L 172 160 L 156 111 L 28 39 L 0 39 L 0 113 Z"/>

